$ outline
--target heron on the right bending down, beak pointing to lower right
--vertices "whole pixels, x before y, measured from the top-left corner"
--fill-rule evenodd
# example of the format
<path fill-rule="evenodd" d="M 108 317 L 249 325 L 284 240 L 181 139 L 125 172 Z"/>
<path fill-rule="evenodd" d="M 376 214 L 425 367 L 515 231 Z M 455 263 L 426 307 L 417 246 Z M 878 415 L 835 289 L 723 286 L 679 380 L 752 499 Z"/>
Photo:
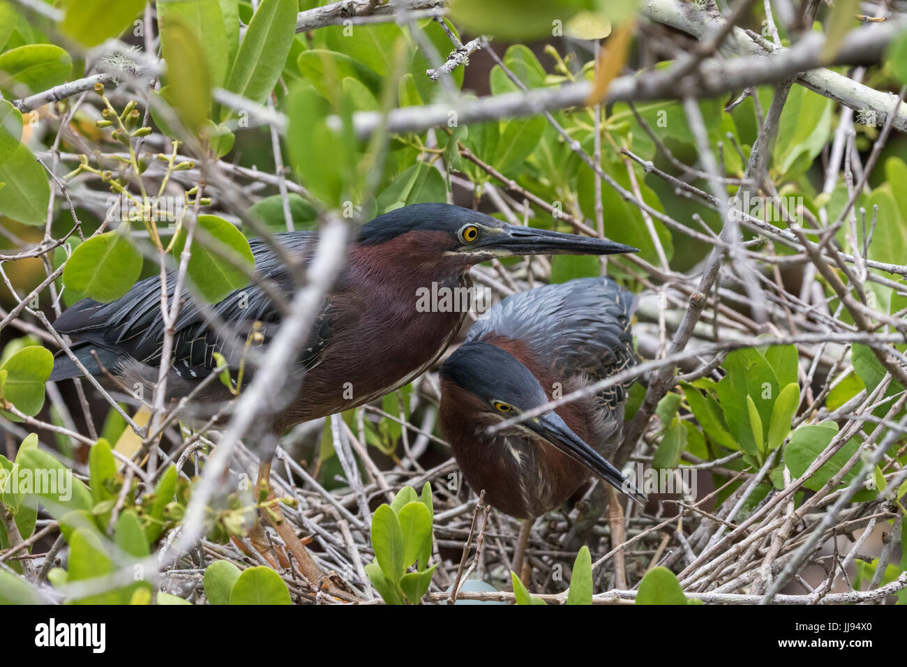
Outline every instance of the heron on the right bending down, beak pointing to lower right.
<path fill-rule="evenodd" d="M 607 278 L 584 278 L 513 294 L 473 324 L 441 367 L 439 424 L 465 481 L 489 505 L 532 522 L 560 506 L 591 475 L 642 504 L 602 453 L 623 429 L 629 384 L 615 385 L 489 435 L 496 424 L 637 363 L 630 333 L 634 295 Z"/>

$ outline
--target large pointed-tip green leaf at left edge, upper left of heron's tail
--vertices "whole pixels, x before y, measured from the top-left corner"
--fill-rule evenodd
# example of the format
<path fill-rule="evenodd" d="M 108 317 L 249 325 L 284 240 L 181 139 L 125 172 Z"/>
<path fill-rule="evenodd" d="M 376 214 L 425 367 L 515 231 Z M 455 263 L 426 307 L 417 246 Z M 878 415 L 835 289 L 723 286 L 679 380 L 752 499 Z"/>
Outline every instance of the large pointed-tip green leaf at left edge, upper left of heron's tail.
<path fill-rule="evenodd" d="M 51 186 L 34 153 L 24 143 L 0 164 L 0 215 L 26 225 L 44 225 L 51 200 Z"/>

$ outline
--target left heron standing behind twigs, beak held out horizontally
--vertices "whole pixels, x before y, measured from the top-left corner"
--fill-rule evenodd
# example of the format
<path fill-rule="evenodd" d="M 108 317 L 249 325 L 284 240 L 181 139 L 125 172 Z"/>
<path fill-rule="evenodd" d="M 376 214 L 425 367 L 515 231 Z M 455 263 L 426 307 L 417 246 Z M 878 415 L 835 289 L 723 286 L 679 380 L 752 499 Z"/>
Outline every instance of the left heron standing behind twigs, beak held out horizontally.
<path fill-rule="evenodd" d="M 289 231 L 275 238 L 288 254 L 308 257 L 317 234 Z M 258 274 L 289 298 L 293 269 L 284 266 L 264 240 L 251 240 L 249 245 Z M 466 309 L 417 308 L 419 289 L 468 289 L 470 267 L 498 257 L 636 251 L 610 240 L 510 225 L 440 203 L 406 206 L 367 222 L 324 300 L 305 348 L 299 350 L 296 368 L 288 373 L 283 387 L 275 387 L 275 406 L 262 424 L 272 436 L 258 446 L 259 483 L 268 484 L 279 434 L 288 427 L 382 397 L 412 381 L 441 356 L 461 328 Z M 175 283 L 175 276 L 169 274 L 171 298 Z M 226 358 L 229 368 L 238 370 L 253 328 L 267 343 L 282 317 L 268 291 L 254 284 L 233 291 L 212 310 L 204 311 L 190 297 L 180 309 L 168 400 L 187 396 L 218 367 L 215 352 Z M 212 316 L 238 335 L 225 336 L 223 327 L 214 326 Z M 140 385 L 151 391 L 158 378 L 164 336 L 160 279 L 141 280 L 111 303 L 83 299 L 63 312 L 54 328 L 72 338 L 73 353 L 99 379 L 110 375 L 108 382 L 113 379 L 121 386 Z M 254 368 L 247 373 L 254 373 Z M 51 379 L 80 374 L 70 358 L 58 356 Z M 193 417 L 217 414 L 232 397 L 227 387 L 210 382 L 193 397 Z M 297 560 L 305 558 L 297 535 L 286 528 L 286 522 L 277 523 L 278 533 Z M 310 557 L 300 560 L 300 564 L 306 562 L 313 563 Z"/>

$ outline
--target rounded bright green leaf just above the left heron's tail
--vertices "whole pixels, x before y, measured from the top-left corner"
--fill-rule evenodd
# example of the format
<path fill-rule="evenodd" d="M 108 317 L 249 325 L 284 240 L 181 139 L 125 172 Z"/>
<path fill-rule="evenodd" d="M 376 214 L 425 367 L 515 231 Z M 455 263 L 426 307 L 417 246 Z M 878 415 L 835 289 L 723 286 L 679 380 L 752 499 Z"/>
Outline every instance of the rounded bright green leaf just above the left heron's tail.
<path fill-rule="evenodd" d="M 128 227 L 123 226 L 76 246 L 63 269 L 63 283 L 106 303 L 128 292 L 140 274 L 141 252 L 129 240 Z"/>

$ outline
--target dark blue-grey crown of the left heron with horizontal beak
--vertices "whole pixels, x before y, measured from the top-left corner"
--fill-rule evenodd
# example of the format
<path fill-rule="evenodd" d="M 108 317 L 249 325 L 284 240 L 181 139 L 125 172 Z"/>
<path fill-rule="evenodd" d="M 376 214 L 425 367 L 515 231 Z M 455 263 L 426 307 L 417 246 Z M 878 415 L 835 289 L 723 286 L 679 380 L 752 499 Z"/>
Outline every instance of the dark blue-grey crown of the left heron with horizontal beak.
<path fill-rule="evenodd" d="M 408 231 L 446 231 L 455 239 L 467 222 L 489 226 L 501 223 L 489 215 L 452 204 L 411 204 L 379 215 L 359 231 L 360 245 L 368 246 L 395 239 Z"/>

